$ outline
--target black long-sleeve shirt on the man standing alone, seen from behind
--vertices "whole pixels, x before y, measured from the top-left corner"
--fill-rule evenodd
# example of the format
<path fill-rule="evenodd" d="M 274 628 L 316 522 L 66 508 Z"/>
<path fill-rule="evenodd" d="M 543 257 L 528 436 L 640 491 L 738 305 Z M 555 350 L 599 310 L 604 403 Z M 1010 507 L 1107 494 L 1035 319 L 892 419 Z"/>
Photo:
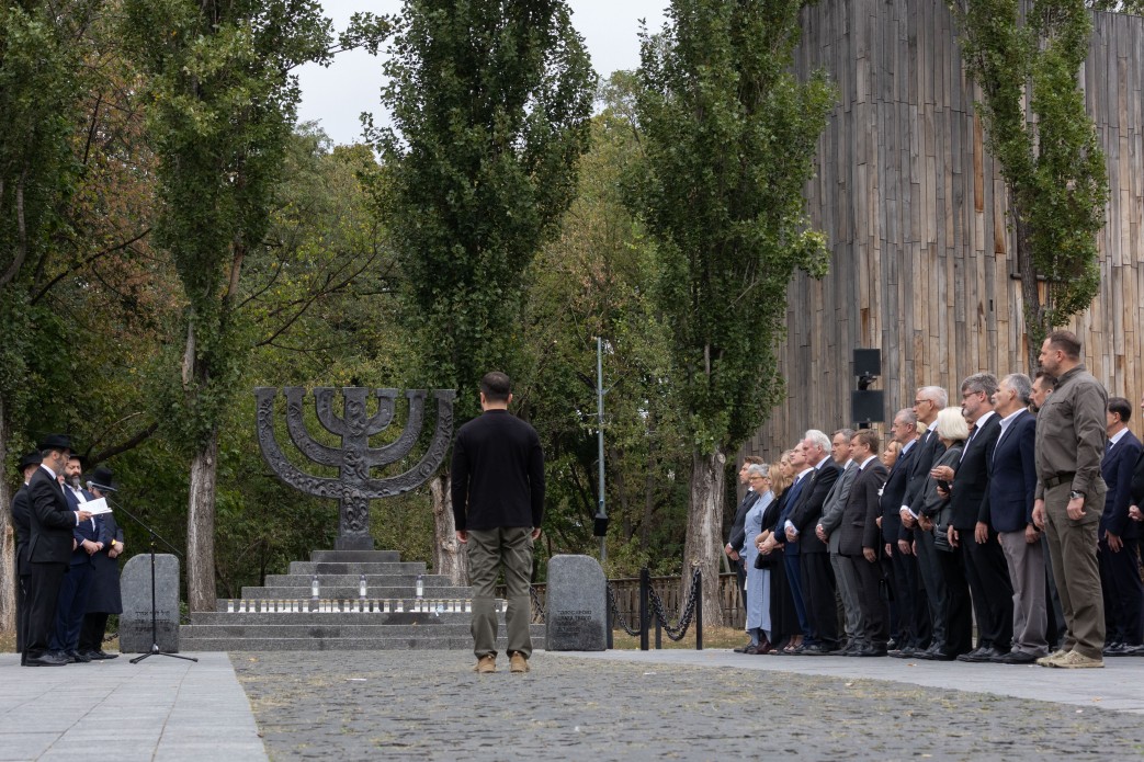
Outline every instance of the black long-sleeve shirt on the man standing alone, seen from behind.
<path fill-rule="evenodd" d="M 535 429 L 505 410 L 487 410 L 453 443 L 453 521 L 458 531 L 540 526 L 545 453 Z"/>

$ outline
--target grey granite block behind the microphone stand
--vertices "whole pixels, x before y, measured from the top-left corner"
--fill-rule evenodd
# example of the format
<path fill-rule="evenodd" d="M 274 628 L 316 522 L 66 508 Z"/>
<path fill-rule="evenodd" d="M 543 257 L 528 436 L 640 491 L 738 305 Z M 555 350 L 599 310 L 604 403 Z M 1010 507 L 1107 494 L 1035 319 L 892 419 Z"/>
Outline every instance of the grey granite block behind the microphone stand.
<path fill-rule="evenodd" d="M 140 554 L 124 565 L 119 578 L 124 612 L 119 614 L 119 650 L 124 653 L 151 651 L 151 555 Z M 178 652 L 178 558 L 154 556 L 156 642 L 159 650 Z"/>

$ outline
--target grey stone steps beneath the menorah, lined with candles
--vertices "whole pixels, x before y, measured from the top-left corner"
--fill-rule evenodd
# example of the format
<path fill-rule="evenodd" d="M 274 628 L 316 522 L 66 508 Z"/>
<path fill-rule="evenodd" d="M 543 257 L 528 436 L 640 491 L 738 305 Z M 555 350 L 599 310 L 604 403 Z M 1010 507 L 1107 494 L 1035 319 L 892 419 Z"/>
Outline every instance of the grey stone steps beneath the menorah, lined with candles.
<path fill-rule="evenodd" d="M 319 584 L 318 611 L 310 585 Z M 362 574 L 366 600 L 359 595 Z M 423 597 L 415 597 L 421 574 Z M 471 650 L 471 588 L 427 574 L 423 563 L 402 562 L 391 550 L 315 550 L 288 574 L 268 574 L 243 597 L 220 600 L 216 611 L 191 614 L 180 627 L 180 651 Z M 505 649 L 503 602 L 498 602 Z M 533 648 L 545 626 L 532 625 Z"/>

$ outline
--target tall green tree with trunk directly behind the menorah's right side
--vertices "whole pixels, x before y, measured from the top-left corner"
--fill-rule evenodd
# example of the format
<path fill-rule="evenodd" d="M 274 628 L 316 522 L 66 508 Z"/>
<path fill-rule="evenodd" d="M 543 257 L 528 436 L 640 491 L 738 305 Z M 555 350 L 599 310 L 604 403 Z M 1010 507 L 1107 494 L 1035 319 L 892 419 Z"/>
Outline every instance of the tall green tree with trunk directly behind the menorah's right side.
<path fill-rule="evenodd" d="M 413 375 L 458 389 L 463 422 L 480 376 L 518 366 L 522 275 L 575 191 L 595 74 L 561 1 L 406 0 L 397 25 L 378 192 L 423 350 Z M 447 475 L 430 489 L 435 567 L 460 581 Z"/>

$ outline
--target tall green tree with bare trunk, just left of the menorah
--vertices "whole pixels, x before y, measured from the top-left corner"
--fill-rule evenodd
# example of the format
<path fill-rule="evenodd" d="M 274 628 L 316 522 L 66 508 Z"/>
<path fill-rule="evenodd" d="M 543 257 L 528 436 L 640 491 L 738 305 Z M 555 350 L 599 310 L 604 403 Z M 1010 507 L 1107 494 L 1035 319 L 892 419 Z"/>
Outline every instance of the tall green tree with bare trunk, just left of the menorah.
<path fill-rule="evenodd" d="M 167 420 L 191 455 L 188 598 L 205 611 L 215 606 L 220 424 L 251 341 L 243 270 L 264 251 L 299 101 L 292 71 L 325 58 L 329 23 L 315 0 L 125 0 L 124 11 L 148 77 L 156 238 L 186 300 Z"/>

